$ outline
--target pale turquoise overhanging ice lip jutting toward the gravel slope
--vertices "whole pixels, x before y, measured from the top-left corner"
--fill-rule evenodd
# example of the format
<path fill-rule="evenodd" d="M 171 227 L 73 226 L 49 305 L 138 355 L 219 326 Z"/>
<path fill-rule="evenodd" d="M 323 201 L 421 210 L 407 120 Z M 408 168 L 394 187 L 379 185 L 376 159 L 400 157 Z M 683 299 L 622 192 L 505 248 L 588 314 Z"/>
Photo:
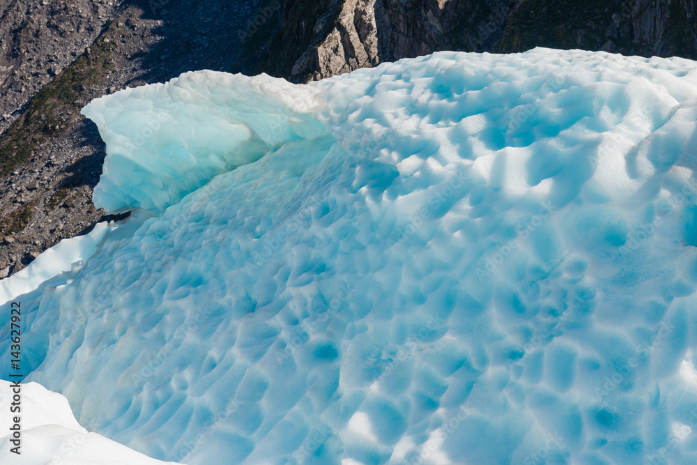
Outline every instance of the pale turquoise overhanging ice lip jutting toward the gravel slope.
<path fill-rule="evenodd" d="M 326 132 L 301 113 L 313 102 L 311 89 L 282 79 L 224 73 L 185 73 L 93 100 L 82 114 L 107 144 L 95 206 L 161 212 L 216 174 Z"/>

